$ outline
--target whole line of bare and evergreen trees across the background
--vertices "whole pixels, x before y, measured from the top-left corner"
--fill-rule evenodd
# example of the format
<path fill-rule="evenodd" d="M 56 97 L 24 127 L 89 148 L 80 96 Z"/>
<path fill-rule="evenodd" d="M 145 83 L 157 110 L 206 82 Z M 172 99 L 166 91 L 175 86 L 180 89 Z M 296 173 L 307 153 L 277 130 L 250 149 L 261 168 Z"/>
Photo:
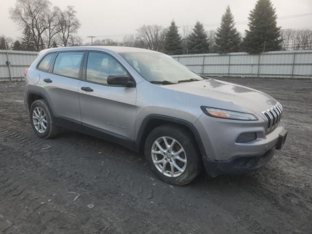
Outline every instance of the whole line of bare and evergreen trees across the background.
<path fill-rule="evenodd" d="M 17 0 L 10 16 L 22 29 L 21 40 L 0 37 L 0 49 L 39 51 L 59 46 L 90 45 L 77 35 L 80 26 L 73 6 L 61 10 L 49 0 Z M 119 45 L 147 48 L 169 55 L 231 53 L 312 49 L 312 30 L 281 30 L 276 23 L 271 0 L 257 0 L 249 14 L 245 36 L 235 28 L 230 6 L 222 15 L 217 30 L 206 32 L 197 21 L 192 29 L 179 27 L 172 20 L 168 28 L 142 25 L 137 34 L 124 36 L 122 42 L 96 39 L 93 45 Z"/>

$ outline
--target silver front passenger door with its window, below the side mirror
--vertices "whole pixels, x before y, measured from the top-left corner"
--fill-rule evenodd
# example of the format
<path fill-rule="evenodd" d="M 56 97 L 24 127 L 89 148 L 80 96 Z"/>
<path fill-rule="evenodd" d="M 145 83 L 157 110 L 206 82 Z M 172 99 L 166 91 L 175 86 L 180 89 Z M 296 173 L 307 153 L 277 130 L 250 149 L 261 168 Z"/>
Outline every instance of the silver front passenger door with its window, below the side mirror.
<path fill-rule="evenodd" d="M 129 142 L 135 137 L 137 89 L 108 85 L 107 77 L 116 73 L 128 74 L 111 55 L 87 52 L 78 89 L 81 121 L 89 129 Z"/>

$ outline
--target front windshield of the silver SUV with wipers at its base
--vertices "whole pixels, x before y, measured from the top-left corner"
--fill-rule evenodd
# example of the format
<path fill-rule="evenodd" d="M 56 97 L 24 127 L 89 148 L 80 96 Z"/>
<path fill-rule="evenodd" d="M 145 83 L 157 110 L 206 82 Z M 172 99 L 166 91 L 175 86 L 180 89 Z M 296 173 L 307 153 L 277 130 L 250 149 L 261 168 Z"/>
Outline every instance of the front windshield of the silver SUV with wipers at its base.
<path fill-rule="evenodd" d="M 150 82 L 165 81 L 163 84 L 171 84 L 203 79 L 168 55 L 159 53 L 121 53 L 120 55 Z"/>

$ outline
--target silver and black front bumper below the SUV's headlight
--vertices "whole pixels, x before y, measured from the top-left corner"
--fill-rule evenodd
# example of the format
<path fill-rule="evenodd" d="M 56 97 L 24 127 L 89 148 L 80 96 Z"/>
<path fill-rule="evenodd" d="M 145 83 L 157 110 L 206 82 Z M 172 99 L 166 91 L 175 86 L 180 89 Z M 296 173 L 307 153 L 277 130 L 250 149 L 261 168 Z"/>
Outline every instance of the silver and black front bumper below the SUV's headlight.
<path fill-rule="evenodd" d="M 285 131 L 283 121 L 270 133 L 265 133 L 265 122 L 237 121 L 209 117 L 203 114 L 195 121 L 195 128 L 208 159 L 229 161 L 236 156 L 262 156 L 275 148 L 279 135 Z M 256 133 L 256 139 L 246 143 L 235 142 L 242 133 Z"/>

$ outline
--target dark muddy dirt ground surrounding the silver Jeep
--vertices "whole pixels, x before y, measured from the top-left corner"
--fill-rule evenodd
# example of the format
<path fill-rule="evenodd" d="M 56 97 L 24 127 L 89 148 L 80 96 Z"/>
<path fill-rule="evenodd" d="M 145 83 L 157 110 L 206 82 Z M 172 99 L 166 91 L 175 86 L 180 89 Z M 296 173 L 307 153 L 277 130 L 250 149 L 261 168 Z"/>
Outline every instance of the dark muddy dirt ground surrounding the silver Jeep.
<path fill-rule="evenodd" d="M 254 174 L 202 173 L 183 187 L 117 144 L 36 137 L 23 83 L 0 83 L 0 233 L 312 234 L 312 80 L 224 80 L 282 103 L 286 145 Z"/>

